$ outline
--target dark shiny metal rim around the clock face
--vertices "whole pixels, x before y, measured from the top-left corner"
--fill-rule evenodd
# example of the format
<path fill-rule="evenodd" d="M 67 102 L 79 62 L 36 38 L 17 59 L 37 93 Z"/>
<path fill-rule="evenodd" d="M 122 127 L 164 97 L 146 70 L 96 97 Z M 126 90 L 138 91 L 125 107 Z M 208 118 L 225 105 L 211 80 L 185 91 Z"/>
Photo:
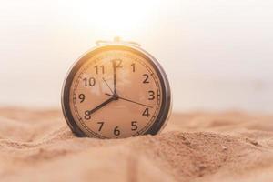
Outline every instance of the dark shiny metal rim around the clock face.
<path fill-rule="evenodd" d="M 88 56 L 92 56 L 96 54 L 96 52 L 108 50 L 111 48 L 119 48 L 121 50 L 134 51 L 137 55 L 143 56 L 145 59 L 147 59 L 148 63 L 151 66 L 153 66 L 153 68 L 155 69 L 157 76 L 159 78 L 160 85 L 162 87 L 162 104 L 158 111 L 157 119 L 152 124 L 152 126 L 150 126 L 147 132 L 144 133 L 144 135 L 147 135 L 147 134 L 156 135 L 158 132 L 160 132 L 164 128 L 164 126 L 166 126 L 167 119 L 171 113 L 172 98 L 171 98 L 171 90 L 170 90 L 169 82 L 167 80 L 167 75 L 155 57 L 151 56 L 149 53 L 147 53 L 147 51 L 143 50 L 139 46 L 130 45 L 126 43 L 107 43 L 105 45 L 97 45 L 91 50 L 87 51 L 83 56 L 80 56 L 76 60 L 76 62 L 73 64 L 73 66 L 70 67 L 63 84 L 62 96 L 61 96 L 61 105 L 62 105 L 63 115 L 66 118 L 67 125 L 70 127 L 70 129 L 76 136 L 80 136 L 80 137 L 87 136 L 76 124 L 76 121 L 74 117 L 72 116 L 71 109 L 69 106 L 70 88 L 72 86 L 74 76 L 76 75 L 78 69 L 86 62 L 86 58 Z"/>

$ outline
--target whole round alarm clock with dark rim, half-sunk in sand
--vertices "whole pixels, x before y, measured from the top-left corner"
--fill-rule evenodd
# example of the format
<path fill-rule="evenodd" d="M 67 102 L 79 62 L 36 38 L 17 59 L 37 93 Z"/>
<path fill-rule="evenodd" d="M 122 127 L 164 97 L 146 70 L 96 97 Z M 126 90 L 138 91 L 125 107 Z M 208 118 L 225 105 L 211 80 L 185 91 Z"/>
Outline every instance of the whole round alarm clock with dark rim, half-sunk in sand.
<path fill-rule="evenodd" d="M 162 66 L 134 42 L 99 41 L 69 70 L 62 108 L 76 136 L 156 135 L 171 112 Z"/>

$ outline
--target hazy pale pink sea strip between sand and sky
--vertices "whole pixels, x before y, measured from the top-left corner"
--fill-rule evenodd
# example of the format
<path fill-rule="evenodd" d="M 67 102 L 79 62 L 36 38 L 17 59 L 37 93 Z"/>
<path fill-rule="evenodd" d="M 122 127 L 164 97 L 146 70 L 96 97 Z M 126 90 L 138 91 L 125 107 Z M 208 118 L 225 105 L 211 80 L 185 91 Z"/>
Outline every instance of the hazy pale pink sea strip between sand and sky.
<path fill-rule="evenodd" d="M 60 107 L 66 73 L 59 76 L 5 76 L 0 106 Z M 170 77 L 171 78 L 171 77 Z M 170 79 L 173 110 L 273 113 L 273 82 L 206 78 Z"/>

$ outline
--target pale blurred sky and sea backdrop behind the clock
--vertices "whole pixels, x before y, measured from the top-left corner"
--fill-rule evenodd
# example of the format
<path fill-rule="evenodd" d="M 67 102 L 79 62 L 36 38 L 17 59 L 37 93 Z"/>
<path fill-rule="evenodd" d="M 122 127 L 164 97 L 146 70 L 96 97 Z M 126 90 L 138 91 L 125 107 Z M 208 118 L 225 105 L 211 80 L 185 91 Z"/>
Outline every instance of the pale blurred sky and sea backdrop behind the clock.
<path fill-rule="evenodd" d="M 273 112 L 273 1 L 0 3 L 0 106 L 59 108 L 68 68 L 118 35 L 159 60 L 176 112 Z"/>

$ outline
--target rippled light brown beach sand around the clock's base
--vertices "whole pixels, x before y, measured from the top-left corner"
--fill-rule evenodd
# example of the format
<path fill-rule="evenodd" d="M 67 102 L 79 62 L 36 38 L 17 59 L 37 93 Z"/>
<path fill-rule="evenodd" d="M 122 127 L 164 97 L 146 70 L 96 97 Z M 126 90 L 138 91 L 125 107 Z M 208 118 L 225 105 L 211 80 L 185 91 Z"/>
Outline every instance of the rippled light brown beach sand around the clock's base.
<path fill-rule="evenodd" d="M 157 136 L 77 138 L 61 111 L 0 109 L 1 181 L 273 181 L 273 116 L 173 114 Z"/>

